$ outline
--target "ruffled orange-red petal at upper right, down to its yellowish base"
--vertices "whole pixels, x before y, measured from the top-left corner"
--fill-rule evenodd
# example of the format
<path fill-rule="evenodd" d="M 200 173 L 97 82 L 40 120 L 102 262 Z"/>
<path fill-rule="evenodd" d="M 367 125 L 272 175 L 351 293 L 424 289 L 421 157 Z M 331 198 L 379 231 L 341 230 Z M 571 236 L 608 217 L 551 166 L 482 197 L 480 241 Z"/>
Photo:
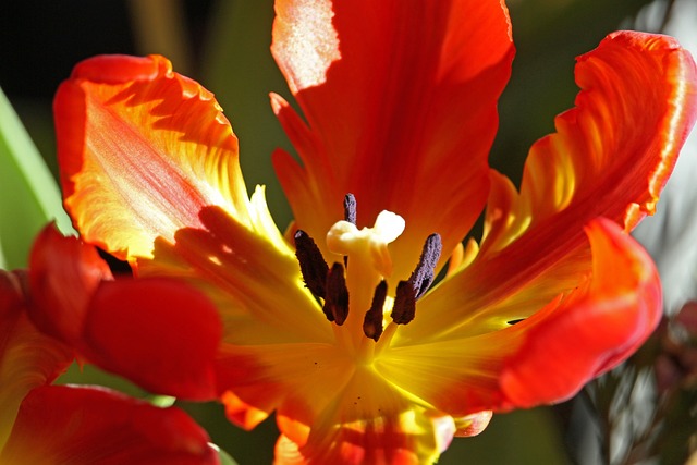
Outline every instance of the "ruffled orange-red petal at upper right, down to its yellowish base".
<path fill-rule="evenodd" d="M 588 221 L 607 216 L 631 230 L 652 211 L 696 117 L 692 58 L 665 36 L 615 33 L 579 58 L 576 76 L 576 108 L 531 148 L 521 193 L 492 172 L 481 249 L 424 299 L 421 331 L 496 304 L 511 311 L 501 325 L 528 317 L 590 270 Z"/>

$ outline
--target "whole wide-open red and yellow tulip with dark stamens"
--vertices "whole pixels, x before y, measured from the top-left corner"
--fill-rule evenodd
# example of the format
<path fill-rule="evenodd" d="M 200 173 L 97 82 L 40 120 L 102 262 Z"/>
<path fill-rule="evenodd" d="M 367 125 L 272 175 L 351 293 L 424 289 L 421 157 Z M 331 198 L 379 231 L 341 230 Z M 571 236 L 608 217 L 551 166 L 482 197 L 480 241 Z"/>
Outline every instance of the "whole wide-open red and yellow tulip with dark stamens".
<path fill-rule="evenodd" d="M 248 196 L 213 95 L 167 59 L 86 60 L 54 113 L 82 240 L 210 298 L 218 395 L 244 428 L 276 412 L 278 463 L 431 463 L 492 412 L 566 400 L 646 340 L 661 287 L 627 232 L 697 108 L 674 39 L 620 32 L 580 57 L 575 108 L 518 191 L 487 163 L 514 56 L 503 2 L 276 11 L 302 110 L 271 95 L 299 156 L 273 156 L 286 234 L 264 188 Z M 482 210 L 482 237 L 461 245 Z"/>

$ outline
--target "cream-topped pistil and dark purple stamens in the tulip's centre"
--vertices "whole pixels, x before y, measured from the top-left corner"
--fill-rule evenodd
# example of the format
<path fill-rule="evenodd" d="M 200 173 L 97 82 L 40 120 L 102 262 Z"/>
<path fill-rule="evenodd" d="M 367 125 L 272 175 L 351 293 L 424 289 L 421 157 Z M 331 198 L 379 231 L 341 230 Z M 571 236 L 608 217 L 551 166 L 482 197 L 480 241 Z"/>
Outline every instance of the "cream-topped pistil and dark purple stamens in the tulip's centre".
<path fill-rule="evenodd" d="M 356 201 L 351 194 L 344 199 L 344 218 L 327 233 L 328 248 L 344 256 L 343 265 L 334 262 L 329 267 L 315 241 L 302 230 L 295 233 L 296 256 L 303 279 L 310 292 L 322 302 L 322 310 L 329 321 L 338 327 L 346 322 L 351 327 L 347 329 L 355 331 L 354 334 L 362 332 L 376 343 L 383 331 L 391 339 L 398 325 L 406 325 L 414 319 L 416 301 L 433 282 L 442 248 L 440 235 L 428 236 L 409 279 L 400 281 L 396 289 L 390 292 L 386 280 L 392 274 L 388 245 L 404 231 L 404 219 L 383 210 L 372 228 L 359 230 L 356 227 Z"/>

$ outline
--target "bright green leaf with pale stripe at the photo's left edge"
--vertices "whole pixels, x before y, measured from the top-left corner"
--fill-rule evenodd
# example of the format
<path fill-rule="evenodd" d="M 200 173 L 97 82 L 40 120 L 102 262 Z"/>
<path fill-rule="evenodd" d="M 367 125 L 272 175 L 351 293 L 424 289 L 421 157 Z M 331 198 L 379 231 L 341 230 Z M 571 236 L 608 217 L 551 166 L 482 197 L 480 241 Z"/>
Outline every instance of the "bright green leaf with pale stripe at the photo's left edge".
<path fill-rule="evenodd" d="M 0 89 L 0 268 L 25 267 L 34 236 L 52 220 L 72 231 L 56 180 Z"/>

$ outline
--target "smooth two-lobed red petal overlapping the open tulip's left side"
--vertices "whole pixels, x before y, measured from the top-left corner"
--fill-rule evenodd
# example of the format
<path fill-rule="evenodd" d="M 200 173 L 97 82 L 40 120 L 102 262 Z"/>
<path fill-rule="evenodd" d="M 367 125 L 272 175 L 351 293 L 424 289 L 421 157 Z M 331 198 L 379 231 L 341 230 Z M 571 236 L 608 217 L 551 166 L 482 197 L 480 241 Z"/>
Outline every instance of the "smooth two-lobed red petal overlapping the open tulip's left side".
<path fill-rule="evenodd" d="M 37 238 L 30 266 L 32 318 L 49 334 L 152 392 L 215 396 L 222 329 L 201 293 L 175 279 L 113 281 L 93 246 L 53 227 Z"/>

